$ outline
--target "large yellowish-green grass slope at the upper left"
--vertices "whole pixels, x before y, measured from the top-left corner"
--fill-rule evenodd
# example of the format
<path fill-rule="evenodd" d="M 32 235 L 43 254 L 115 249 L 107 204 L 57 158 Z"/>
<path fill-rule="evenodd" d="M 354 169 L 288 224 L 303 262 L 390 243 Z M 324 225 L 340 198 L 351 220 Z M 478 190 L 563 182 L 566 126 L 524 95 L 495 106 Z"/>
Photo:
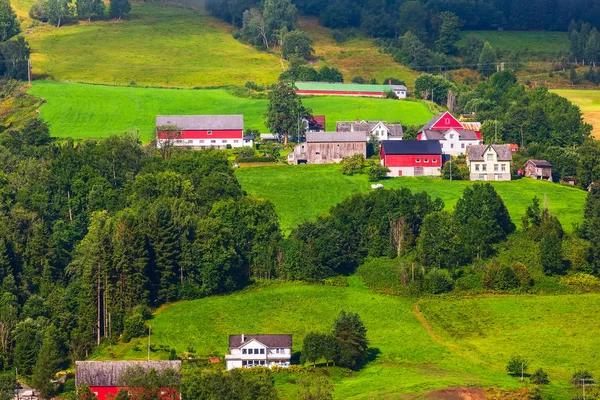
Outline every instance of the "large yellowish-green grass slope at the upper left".
<path fill-rule="evenodd" d="M 274 82 L 282 71 L 278 57 L 196 10 L 133 4 L 127 21 L 32 30 L 33 73 L 56 80 L 196 87 Z"/>

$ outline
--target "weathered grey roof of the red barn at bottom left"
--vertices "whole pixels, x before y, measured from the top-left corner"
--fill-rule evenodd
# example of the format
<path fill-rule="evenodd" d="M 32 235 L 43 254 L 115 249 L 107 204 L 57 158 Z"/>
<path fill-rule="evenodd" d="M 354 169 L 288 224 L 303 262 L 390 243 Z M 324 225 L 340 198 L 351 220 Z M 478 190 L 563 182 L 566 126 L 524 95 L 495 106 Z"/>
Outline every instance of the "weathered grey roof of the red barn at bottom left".
<path fill-rule="evenodd" d="M 75 386 L 119 386 L 119 379 L 129 367 L 146 371 L 172 368 L 181 371 L 181 361 L 75 361 Z"/>

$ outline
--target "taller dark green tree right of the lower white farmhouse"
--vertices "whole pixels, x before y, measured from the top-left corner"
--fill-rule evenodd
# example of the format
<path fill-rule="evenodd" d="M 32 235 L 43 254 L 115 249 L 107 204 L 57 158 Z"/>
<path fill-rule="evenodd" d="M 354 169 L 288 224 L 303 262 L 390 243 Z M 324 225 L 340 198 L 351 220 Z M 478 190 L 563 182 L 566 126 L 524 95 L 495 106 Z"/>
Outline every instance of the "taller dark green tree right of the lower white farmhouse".
<path fill-rule="evenodd" d="M 337 365 L 356 368 L 365 360 L 369 341 L 358 314 L 342 310 L 333 324 L 333 336 L 339 342 L 339 353 L 334 359 Z"/>

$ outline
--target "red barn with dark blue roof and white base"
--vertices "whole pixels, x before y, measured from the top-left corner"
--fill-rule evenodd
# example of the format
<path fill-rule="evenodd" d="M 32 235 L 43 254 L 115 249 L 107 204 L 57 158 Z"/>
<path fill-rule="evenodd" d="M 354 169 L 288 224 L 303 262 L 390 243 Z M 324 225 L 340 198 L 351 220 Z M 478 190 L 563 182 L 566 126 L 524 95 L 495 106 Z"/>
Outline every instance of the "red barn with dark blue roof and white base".
<path fill-rule="evenodd" d="M 442 147 L 438 140 L 384 140 L 381 165 L 388 176 L 440 176 Z"/>

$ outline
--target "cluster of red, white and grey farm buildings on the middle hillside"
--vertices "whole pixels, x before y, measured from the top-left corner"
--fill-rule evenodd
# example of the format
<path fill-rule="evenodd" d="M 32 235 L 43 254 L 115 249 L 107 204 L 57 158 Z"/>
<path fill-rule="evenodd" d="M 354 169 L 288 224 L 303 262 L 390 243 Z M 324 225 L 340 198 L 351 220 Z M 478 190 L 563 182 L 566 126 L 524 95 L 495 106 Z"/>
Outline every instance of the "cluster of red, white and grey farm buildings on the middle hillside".
<path fill-rule="evenodd" d="M 338 84 L 319 85 L 325 88 Z M 308 87 L 302 83 L 297 86 L 299 90 Z M 356 86 L 365 90 L 376 89 L 371 86 L 393 87 Z M 515 144 L 483 144 L 480 122 L 460 121 L 448 111 L 427 122 L 416 140 L 404 140 L 400 123 L 339 121 L 335 131 L 327 132 L 325 122 L 322 115 L 298 121 L 297 137 L 291 137 L 297 144 L 287 156 L 288 164 L 337 163 L 355 154 L 366 158 L 371 142 L 379 144 L 380 162 L 388 168 L 389 177 L 441 176 L 442 167 L 452 157 L 465 157 L 471 180 L 506 181 L 511 179 L 512 155 L 518 150 Z M 159 148 L 167 143 L 189 149 L 253 147 L 257 140 L 244 135 L 243 115 L 157 116 L 156 130 Z M 259 138 L 261 142 L 279 139 L 276 134 Z M 551 181 L 552 165 L 545 160 L 529 160 L 519 175 Z"/>

